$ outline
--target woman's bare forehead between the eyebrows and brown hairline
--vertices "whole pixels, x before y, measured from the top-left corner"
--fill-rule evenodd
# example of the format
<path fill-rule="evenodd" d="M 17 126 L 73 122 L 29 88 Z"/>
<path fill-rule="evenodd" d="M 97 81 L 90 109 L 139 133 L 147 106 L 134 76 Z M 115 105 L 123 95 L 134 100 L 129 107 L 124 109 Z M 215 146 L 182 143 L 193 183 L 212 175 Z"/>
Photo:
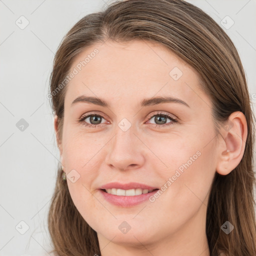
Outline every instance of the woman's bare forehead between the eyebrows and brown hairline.
<path fill-rule="evenodd" d="M 69 103 L 83 94 L 123 102 L 168 95 L 192 103 L 202 93 L 191 66 L 164 46 L 144 40 L 91 45 L 75 57 L 70 71 L 74 69 L 66 88 Z"/>

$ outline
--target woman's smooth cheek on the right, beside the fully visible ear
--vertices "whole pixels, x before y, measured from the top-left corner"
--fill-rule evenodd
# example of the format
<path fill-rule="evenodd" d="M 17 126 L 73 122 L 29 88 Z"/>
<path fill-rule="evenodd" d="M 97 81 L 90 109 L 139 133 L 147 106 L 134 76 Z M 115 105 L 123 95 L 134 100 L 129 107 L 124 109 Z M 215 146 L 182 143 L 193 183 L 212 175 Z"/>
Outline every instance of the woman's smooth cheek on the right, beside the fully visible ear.
<path fill-rule="evenodd" d="M 166 201 L 166 212 L 172 212 L 177 221 L 194 214 L 203 203 L 207 205 L 205 199 L 216 166 L 214 139 L 209 139 L 214 138 L 214 132 L 207 136 L 200 131 L 189 134 L 194 135 L 177 137 L 176 141 L 166 140 L 165 144 L 170 145 L 167 149 L 157 151 L 157 147 L 154 148 L 168 166 L 160 170 L 158 164 L 154 165 L 158 176 L 164 180 L 162 190 L 165 189 L 155 201 L 159 203 L 157 207 L 162 207 L 161 203 Z M 180 215 L 176 216 L 175 212 L 180 212 Z"/>

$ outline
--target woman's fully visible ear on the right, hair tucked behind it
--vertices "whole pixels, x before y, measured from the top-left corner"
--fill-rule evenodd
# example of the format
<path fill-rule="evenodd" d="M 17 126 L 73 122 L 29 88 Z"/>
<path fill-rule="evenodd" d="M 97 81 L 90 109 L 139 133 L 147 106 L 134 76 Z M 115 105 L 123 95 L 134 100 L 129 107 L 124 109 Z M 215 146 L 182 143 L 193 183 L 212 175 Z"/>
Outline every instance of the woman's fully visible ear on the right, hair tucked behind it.
<path fill-rule="evenodd" d="M 231 172 L 241 161 L 247 138 L 247 122 L 240 111 L 229 115 L 220 129 L 222 141 L 219 143 L 216 171 L 221 175 Z"/>

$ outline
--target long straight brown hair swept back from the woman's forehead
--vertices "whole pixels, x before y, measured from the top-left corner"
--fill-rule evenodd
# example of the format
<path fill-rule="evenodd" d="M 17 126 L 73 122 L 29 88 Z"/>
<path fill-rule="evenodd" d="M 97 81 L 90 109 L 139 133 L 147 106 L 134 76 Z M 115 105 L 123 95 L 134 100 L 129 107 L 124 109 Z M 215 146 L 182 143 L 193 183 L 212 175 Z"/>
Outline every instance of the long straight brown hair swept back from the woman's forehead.
<path fill-rule="evenodd" d="M 256 255 L 255 116 L 242 63 L 231 39 L 209 15 L 183 0 L 115 1 L 101 12 L 84 16 L 62 39 L 50 75 L 49 95 L 53 113 L 58 117 L 57 141 L 61 141 L 63 127 L 66 86 L 62 82 L 72 61 L 86 47 L 107 39 L 160 43 L 190 64 L 203 81 L 202 89 L 211 97 L 218 128 L 234 111 L 245 115 L 248 132 L 244 154 L 228 175 L 215 172 L 205 232 L 211 256 L 220 250 L 230 256 Z M 228 235 L 220 228 L 227 220 L 234 226 Z M 73 204 L 60 166 L 48 212 L 48 229 L 56 255 L 101 255 L 96 232 Z"/>

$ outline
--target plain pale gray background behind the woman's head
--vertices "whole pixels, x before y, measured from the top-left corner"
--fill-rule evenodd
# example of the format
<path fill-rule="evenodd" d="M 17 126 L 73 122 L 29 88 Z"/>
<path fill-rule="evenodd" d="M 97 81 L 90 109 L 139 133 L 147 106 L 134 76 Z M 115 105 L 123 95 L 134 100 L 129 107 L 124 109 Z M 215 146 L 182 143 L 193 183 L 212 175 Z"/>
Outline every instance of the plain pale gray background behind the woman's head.
<path fill-rule="evenodd" d="M 72 25 L 110 2 L 0 0 L 0 256 L 49 255 L 46 215 L 59 160 L 46 98 L 52 61 Z M 188 2 L 220 26 L 224 18 L 255 109 L 256 0 Z M 29 23 L 23 28 L 25 22 Z M 28 126 L 22 131 L 17 126 L 24 122 Z"/>

